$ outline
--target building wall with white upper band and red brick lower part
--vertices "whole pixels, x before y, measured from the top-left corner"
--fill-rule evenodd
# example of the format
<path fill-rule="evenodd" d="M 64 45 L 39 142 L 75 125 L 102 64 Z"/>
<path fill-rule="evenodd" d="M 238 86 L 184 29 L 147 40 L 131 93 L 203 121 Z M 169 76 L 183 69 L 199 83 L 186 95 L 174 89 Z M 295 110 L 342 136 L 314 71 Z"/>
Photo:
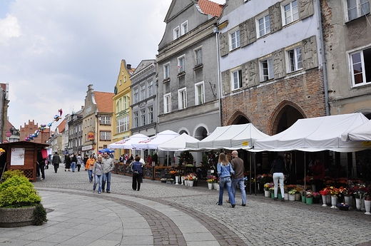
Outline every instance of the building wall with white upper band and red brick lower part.
<path fill-rule="evenodd" d="M 288 107 L 295 108 L 294 118 L 326 115 L 317 1 L 299 0 L 298 20 L 285 25 L 282 8 L 288 3 L 228 1 L 225 6 L 219 21 L 223 125 L 242 116 L 263 132 L 275 134 Z M 257 21 L 265 15 L 270 17 L 270 32 L 259 36 Z M 229 36 L 236 29 L 240 47 L 230 50 Z M 293 48 L 301 48 L 303 68 L 296 71 L 290 71 L 288 63 Z M 262 61 L 268 58 L 273 60 L 273 77 L 264 81 Z M 234 70 L 241 70 L 238 89 L 232 88 Z"/>

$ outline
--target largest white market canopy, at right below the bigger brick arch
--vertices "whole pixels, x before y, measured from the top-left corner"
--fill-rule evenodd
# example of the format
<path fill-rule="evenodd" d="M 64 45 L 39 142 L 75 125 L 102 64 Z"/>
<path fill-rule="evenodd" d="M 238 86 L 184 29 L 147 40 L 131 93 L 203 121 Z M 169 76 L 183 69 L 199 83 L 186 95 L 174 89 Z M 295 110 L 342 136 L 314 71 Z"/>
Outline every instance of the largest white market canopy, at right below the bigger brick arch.
<path fill-rule="evenodd" d="M 355 152 L 365 150 L 370 146 L 363 146 L 362 142 L 344 142 L 341 140 L 341 135 L 367 121 L 368 119 L 362 113 L 300 119 L 282 133 L 257 140 L 253 151 Z"/>

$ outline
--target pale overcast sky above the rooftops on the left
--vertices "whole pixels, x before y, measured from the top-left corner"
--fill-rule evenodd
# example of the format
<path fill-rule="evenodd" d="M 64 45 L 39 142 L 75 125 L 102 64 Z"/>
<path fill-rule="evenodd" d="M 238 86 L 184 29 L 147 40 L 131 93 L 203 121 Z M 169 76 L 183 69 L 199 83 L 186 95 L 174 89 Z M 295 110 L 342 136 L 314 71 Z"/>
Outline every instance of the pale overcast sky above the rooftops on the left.
<path fill-rule="evenodd" d="M 113 92 L 122 59 L 135 68 L 156 58 L 170 4 L 0 0 L 0 83 L 9 83 L 9 121 L 15 128 L 29 120 L 48 124 L 59 108 L 64 118 L 83 106 L 89 84 Z"/>

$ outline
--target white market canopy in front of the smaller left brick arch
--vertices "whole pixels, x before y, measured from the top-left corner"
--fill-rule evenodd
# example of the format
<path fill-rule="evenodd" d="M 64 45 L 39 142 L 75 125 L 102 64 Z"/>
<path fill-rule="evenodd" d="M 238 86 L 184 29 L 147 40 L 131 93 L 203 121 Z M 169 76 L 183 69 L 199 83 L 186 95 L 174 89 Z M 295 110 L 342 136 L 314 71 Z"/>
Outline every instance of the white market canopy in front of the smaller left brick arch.
<path fill-rule="evenodd" d="M 228 150 L 245 149 L 253 147 L 255 140 L 268 138 L 269 135 L 261 132 L 252 123 L 242 125 L 227 125 L 215 128 L 208 137 L 198 143 L 186 143 L 188 150 Z"/>

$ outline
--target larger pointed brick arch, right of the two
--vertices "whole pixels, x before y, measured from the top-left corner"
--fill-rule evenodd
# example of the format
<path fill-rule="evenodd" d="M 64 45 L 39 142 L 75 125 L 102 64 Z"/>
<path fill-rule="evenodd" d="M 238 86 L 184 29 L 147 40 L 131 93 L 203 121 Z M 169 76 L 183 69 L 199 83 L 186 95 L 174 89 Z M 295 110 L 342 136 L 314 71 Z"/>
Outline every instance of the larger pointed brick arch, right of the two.
<path fill-rule="evenodd" d="M 290 112 L 291 116 L 288 116 L 288 112 Z M 278 129 L 279 126 L 283 125 L 283 118 L 286 118 L 288 122 L 285 127 Z M 272 115 L 270 116 L 267 125 L 267 132 L 270 135 L 280 133 L 281 131 L 285 130 L 284 128 L 289 128 L 300 118 L 308 118 L 303 109 L 292 101 L 283 100 L 278 104 L 278 106 L 275 107 Z"/>

